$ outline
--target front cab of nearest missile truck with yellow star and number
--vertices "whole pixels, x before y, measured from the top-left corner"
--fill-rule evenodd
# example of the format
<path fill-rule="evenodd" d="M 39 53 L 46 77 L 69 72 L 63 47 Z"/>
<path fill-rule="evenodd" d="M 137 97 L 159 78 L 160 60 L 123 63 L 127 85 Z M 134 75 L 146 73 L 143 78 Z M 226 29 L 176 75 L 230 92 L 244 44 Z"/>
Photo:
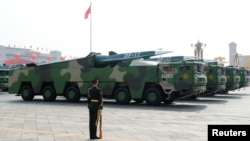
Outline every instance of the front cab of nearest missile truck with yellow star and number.
<path fill-rule="evenodd" d="M 172 71 L 164 71 L 166 66 Z M 201 66 L 197 68 L 197 66 Z M 174 61 L 160 63 L 160 85 L 165 93 L 174 93 L 175 98 L 187 98 L 197 96 L 206 91 L 207 77 L 205 67 L 207 65 L 197 61 Z M 165 80 L 166 79 L 166 80 Z"/>

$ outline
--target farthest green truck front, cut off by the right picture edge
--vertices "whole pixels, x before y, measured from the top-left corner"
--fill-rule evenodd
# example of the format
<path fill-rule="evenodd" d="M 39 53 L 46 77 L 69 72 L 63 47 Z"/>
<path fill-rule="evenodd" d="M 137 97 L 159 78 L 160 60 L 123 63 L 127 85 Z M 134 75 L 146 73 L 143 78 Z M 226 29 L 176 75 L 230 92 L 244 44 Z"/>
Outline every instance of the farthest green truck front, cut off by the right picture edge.
<path fill-rule="evenodd" d="M 240 88 L 245 88 L 249 86 L 250 81 L 250 71 L 244 67 L 240 68 Z"/>

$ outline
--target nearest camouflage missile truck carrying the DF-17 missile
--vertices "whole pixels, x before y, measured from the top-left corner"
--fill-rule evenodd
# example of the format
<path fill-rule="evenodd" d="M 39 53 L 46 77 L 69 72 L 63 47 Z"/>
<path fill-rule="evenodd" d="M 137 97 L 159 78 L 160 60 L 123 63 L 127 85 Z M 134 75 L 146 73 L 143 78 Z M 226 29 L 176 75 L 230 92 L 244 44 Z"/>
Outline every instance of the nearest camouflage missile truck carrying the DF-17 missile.
<path fill-rule="evenodd" d="M 42 95 L 45 101 L 63 96 L 76 102 L 87 96 L 94 77 L 99 79 L 103 97 L 114 98 L 119 104 L 128 104 L 132 99 L 145 100 L 149 105 L 171 102 L 170 94 L 176 89 L 181 90 L 179 95 L 199 93 L 200 86 L 206 82 L 201 74 L 204 71 L 202 64 L 180 63 L 175 69 L 165 63 L 138 60 L 165 53 L 170 52 L 110 52 L 109 56 L 92 52 L 74 60 L 29 64 L 10 71 L 9 93 L 20 95 L 23 100 Z"/>

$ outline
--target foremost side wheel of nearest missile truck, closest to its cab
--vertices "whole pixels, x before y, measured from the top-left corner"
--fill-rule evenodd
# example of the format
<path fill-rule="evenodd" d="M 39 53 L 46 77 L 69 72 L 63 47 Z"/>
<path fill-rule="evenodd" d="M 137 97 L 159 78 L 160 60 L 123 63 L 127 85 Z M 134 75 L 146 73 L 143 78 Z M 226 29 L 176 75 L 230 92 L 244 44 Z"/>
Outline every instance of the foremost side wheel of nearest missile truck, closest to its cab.
<path fill-rule="evenodd" d="M 157 88 L 149 88 L 144 96 L 148 105 L 159 105 L 162 101 L 161 92 Z"/>

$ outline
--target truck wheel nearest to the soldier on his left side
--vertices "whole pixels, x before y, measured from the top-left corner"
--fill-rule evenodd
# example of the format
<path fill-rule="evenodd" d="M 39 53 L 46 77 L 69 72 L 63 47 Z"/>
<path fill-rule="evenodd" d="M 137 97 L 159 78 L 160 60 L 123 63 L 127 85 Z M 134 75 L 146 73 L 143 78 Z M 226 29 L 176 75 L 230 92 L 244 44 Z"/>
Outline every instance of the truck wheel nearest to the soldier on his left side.
<path fill-rule="evenodd" d="M 77 87 L 69 86 L 65 91 L 65 97 L 70 102 L 78 102 L 81 99 L 81 95 Z"/>

